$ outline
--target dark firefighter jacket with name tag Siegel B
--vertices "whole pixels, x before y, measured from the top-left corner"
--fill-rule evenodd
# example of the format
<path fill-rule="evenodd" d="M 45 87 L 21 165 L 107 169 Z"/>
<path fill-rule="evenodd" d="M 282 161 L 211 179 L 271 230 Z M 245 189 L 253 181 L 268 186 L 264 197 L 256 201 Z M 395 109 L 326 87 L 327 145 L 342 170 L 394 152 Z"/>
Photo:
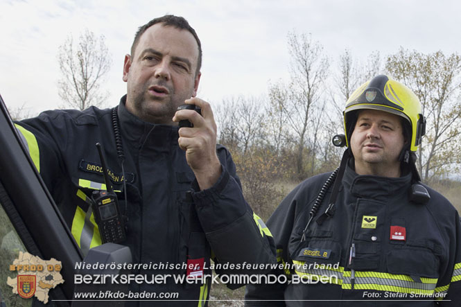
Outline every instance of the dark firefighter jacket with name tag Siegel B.
<path fill-rule="evenodd" d="M 296 282 L 248 285 L 245 306 L 436 306 L 441 297 L 443 306 L 460 306 L 461 225 L 448 200 L 427 188 L 428 203 L 410 202 L 410 174 L 357 175 L 347 166 L 336 212 L 315 221 L 327 209 L 329 188 L 301 243 L 328 177 L 299 184 L 267 223 L 286 268 L 272 274 Z"/>

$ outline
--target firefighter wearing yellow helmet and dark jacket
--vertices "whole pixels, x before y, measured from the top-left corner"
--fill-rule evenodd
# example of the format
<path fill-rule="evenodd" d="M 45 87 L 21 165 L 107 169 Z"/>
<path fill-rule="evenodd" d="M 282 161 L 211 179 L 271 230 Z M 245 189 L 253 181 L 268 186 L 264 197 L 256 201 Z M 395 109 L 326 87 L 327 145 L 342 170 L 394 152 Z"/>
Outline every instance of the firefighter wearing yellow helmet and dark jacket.
<path fill-rule="evenodd" d="M 376 76 L 347 100 L 344 123 L 340 167 L 304 180 L 268 220 L 280 263 L 270 274 L 287 282 L 247 286 L 245 306 L 459 306 L 460 217 L 419 182 L 417 96 Z"/>

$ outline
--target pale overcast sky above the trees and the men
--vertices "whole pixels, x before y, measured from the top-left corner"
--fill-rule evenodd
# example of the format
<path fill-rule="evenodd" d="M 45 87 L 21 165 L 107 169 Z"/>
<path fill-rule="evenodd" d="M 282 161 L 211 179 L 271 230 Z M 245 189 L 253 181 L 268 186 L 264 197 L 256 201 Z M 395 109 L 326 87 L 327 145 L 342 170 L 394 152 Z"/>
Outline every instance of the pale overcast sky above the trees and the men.
<path fill-rule="evenodd" d="M 0 0 L 0 94 L 8 107 L 24 105 L 31 114 L 60 107 L 58 46 L 86 27 L 106 37 L 112 68 L 104 87 L 111 93 L 107 106 L 116 105 L 126 92 L 123 57 L 134 33 L 165 14 L 185 17 L 197 31 L 199 96 L 215 104 L 233 95 L 259 96 L 269 80 L 288 80 L 293 30 L 312 33 L 333 61 L 345 49 L 363 59 L 400 46 L 461 51 L 460 1 Z"/>

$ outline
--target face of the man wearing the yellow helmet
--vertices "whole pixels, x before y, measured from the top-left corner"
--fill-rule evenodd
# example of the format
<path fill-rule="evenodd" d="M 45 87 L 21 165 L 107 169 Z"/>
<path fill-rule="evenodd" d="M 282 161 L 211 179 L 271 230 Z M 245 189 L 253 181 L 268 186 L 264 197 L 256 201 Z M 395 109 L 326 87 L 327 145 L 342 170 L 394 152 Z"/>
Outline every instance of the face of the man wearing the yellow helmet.
<path fill-rule="evenodd" d="M 360 111 L 350 144 L 356 172 L 399 177 L 404 143 L 400 116 L 374 109 Z"/>

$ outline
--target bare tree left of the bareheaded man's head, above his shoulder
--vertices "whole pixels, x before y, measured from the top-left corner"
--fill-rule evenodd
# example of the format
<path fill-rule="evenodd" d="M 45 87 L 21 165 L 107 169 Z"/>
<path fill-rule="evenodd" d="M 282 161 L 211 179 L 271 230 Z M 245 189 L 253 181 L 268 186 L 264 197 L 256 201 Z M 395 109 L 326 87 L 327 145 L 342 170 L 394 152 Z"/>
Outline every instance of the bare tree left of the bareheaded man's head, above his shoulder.
<path fill-rule="evenodd" d="M 86 29 L 76 45 L 69 35 L 59 48 L 58 62 L 62 73 L 58 82 L 59 96 L 69 107 L 86 109 L 104 103 L 108 93 L 101 91 L 101 85 L 112 58 L 103 35 L 96 37 Z"/>

